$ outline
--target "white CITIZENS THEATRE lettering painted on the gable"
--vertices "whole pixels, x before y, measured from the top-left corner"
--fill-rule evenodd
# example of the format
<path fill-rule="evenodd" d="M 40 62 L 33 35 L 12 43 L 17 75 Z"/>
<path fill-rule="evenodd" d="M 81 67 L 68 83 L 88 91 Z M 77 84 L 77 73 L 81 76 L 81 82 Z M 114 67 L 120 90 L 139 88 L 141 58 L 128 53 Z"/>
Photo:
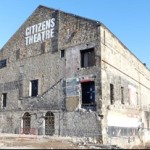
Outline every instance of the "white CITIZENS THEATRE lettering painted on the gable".
<path fill-rule="evenodd" d="M 25 30 L 25 43 L 30 45 L 50 38 L 54 38 L 56 19 L 51 18 L 29 26 Z"/>

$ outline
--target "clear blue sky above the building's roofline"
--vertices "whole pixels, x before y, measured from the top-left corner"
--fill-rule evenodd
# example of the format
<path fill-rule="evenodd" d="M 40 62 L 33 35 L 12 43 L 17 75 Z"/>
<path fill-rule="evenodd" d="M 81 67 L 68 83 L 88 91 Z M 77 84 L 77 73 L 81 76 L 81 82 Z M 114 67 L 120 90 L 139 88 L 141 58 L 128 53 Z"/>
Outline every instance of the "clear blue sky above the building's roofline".
<path fill-rule="evenodd" d="M 39 5 L 102 22 L 150 68 L 150 0 L 0 0 L 0 48 Z"/>

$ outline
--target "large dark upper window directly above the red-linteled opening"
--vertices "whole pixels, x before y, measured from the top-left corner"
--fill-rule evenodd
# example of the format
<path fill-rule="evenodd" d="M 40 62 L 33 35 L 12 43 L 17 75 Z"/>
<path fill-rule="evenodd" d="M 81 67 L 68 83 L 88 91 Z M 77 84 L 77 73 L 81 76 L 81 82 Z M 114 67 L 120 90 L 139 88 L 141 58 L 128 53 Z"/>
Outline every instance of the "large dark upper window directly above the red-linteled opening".
<path fill-rule="evenodd" d="M 81 51 L 81 67 L 91 67 L 95 65 L 94 48 Z"/>

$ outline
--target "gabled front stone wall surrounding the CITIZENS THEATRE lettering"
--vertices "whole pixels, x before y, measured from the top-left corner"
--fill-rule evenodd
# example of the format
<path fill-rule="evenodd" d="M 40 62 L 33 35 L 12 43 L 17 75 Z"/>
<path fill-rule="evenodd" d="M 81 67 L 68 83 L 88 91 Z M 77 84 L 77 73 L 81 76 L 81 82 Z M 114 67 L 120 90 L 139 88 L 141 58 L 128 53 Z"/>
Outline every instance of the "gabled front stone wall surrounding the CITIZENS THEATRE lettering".
<path fill-rule="evenodd" d="M 27 27 L 51 18 L 55 18 L 55 32 L 53 38 L 44 40 L 45 49 L 42 49 L 43 41 L 26 44 Z M 22 117 L 28 112 L 31 128 L 45 134 L 45 114 L 51 111 L 55 116 L 55 135 L 99 136 L 100 121 L 95 120 L 101 108 L 99 38 L 98 22 L 38 7 L 0 54 L 1 59 L 7 59 L 7 66 L 0 69 L 0 94 L 7 93 L 7 106 L 1 107 L 0 113 L 8 117 L 1 120 L 4 125 L 1 132 L 20 133 Z M 94 48 L 95 66 L 81 68 L 80 50 L 89 48 Z M 61 50 L 65 50 L 64 58 L 61 58 Z M 78 95 L 75 96 L 66 95 L 67 81 L 71 78 L 77 81 Z M 38 96 L 30 97 L 30 81 L 35 79 L 39 83 Z M 81 109 L 81 79 L 95 82 L 96 110 L 92 112 Z M 4 129 L 9 118 L 13 125 Z"/>

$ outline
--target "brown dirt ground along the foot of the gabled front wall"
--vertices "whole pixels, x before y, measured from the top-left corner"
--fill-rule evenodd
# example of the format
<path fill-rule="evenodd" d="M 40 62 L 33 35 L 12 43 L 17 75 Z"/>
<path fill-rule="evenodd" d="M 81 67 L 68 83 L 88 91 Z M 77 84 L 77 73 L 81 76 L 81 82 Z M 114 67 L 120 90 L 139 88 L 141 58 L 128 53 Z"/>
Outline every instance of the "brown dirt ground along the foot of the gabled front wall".
<path fill-rule="evenodd" d="M 0 133 L 0 149 L 96 149 L 85 139 Z M 97 149 L 101 149 L 98 147 Z"/>

